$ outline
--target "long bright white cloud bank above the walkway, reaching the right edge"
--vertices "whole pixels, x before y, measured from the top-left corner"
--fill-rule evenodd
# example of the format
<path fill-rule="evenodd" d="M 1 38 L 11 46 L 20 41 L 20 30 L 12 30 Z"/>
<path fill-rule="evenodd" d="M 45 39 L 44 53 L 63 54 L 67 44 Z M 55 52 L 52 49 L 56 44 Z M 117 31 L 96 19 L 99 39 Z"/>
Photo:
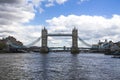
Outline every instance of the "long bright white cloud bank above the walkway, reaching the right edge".
<path fill-rule="evenodd" d="M 97 43 L 99 40 L 119 41 L 120 15 L 111 18 L 90 15 L 61 15 L 46 20 L 51 32 L 66 30 L 71 32 L 74 27 L 78 29 L 79 37 L 86 42 Z"/>

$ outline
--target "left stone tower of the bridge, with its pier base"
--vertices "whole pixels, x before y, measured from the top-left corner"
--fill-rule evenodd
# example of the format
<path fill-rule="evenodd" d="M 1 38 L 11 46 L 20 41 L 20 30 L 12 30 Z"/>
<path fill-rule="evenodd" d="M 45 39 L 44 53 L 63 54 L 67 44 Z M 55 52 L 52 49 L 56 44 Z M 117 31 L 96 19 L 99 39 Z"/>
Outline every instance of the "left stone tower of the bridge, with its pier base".
<path fill-rule="evenodd" d="M 41 53 L 48 53 L 49 49 L 47 47 L 47 30 L 44 28 L 42 29 L 42 40 L 41 40 L 41 48 L 40 48 L 40 52 Z"/>

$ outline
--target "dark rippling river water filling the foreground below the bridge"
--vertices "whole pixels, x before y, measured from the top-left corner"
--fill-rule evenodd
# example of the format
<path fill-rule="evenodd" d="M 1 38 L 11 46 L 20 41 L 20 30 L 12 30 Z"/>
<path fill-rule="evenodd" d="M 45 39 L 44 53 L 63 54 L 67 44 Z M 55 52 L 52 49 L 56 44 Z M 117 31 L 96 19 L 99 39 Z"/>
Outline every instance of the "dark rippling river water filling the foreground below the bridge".
<path fill-rule="evenodd" d="M 92 53 L 0 54 L 0 80 L 120 80 L 120 59 Z"/>

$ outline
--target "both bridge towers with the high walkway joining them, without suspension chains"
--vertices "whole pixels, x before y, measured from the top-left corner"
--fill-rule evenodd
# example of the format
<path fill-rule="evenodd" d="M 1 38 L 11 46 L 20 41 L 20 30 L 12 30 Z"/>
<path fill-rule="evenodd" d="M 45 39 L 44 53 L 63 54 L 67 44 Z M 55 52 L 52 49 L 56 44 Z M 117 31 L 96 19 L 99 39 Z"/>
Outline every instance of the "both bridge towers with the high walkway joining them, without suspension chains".
<path fill-rule="evenodd" d="M 47 29 L 42 29 L 42 46 L 41 46 L 41 52 L 42 53 L 48 53 L 49 48 L 47 46 L 48 43 L 48 36 L 71 36 L 72 37 L 72 47 L 71 47 L 71 53 L 79 53 L 78 48 L 78 30 L 74 28 L 72 30 L 72 34 L 48 34 Z"/>

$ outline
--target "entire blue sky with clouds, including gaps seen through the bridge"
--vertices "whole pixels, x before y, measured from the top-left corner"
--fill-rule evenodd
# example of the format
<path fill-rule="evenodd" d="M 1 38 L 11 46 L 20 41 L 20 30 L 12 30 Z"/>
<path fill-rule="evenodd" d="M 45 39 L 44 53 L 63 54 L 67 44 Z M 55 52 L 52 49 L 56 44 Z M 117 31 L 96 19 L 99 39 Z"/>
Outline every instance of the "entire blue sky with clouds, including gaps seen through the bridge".
<path fill-rule="evenodd" d="M 0 38 L 14 36 L 24 45 L 49 33 L 71 33 L 89 44 L 120 40 L 120 0 L 0 0 Z M 48 46 L 71 46 L 71 38 L 49 37 Z M 40 46 L 41 42 L 37 43 Z M 79 46 L 84 46 L 79 42 Z"/>

